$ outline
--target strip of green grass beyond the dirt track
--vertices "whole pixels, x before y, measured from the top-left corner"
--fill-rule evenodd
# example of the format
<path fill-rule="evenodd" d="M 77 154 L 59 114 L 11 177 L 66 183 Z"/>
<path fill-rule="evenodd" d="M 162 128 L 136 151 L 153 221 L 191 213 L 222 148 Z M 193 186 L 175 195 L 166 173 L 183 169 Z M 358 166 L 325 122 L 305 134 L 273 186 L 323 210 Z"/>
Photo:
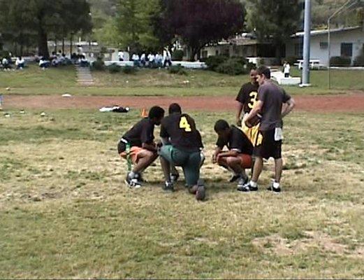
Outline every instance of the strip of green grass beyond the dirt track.
<path fill-rule="evenodd" d="M 173 75 L 164 69 L 142 69 L 135 75 L 94 71 L 95 85 L 84 87 L 76 83 L 73 66 L 43 71 L 30 65 L 24 71 L 0 72 L 0 89 L 10 87 L 6 94 L 234 96 L 242 83 L 249 80 L 246 75 L 227 76 L 212 71 L 190 70 L 187 73 L 187 76 Z M 293 76 L 300 76 L 297 69 Z M 312 87 L 286 87 L 286 90 L 291 94 L 340 94 L 347 90 L 364 90 L 363 81 L 364 71 L 333 71 L 333 90 L 328 90 L 327 71 L 312 71 Z"/>

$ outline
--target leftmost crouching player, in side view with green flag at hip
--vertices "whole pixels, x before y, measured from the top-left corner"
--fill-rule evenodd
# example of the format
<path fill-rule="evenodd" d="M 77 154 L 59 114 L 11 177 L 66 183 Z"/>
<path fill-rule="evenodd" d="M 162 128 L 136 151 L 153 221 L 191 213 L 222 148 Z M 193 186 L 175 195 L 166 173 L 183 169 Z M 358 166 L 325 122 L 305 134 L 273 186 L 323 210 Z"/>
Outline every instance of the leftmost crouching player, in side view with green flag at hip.
<path fill-rule="evenodd" d="M 148 118 L 143 118 L 131 127 L 117 145 L 119 155 L 128 162 L 129 173 L 125 182 L 131 188 L 140 188 L 141 173 L 158 158 L 154 143 L 154 125 L 160 125 L 163 117 L 164 110 L 161 107 L 152 107 Z"/>

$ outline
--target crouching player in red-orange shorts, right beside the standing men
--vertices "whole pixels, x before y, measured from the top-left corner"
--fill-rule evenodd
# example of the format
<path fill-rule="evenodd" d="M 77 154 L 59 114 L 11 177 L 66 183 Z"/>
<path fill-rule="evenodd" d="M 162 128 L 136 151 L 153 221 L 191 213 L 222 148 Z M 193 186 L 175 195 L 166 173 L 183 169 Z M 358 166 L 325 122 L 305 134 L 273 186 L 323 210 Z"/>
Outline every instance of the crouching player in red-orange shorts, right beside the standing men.
<path fill-rule="evenodd" d="M 252 143 L 238 127 L 228 125 L 226 120 L 218 120 L 214 131 L 219 138 L 212 162 L 233 172 L 230 182 L 238 180 L 238 188 L 244 186 L 248 181 L 245 169 L 252 167 Z M 223 151 L 224 146 L 228 151 Z"/>

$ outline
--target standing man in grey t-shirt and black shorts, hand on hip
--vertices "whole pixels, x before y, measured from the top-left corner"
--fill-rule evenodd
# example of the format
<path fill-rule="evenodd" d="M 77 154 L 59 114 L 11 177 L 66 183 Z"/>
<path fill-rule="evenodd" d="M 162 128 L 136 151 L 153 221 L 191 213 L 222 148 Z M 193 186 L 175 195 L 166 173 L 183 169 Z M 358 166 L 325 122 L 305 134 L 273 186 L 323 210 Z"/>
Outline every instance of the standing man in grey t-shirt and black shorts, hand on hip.
<path fill-rule="evenodd" d="M 254 148 L 256 160 L 254 163 L 252 180 L 238 188 L 242 192 L 258 190 L 258 179 L 263 169 L 263 158 L 275 159 L 275 181 L 268 190 L 275 193 L 281 191 L 280 180 L 282 176 L 282 118 L 288 115 L 296 105 L 293 98 L 278 87 L 270 80 L 270 69 L 266 66 L 260 66 L 258 72 L 258 102 L 256 102 L 252 111 L 243 120 L 249 127 L 252 126 L 250 121 L 261 113 L 261 125 L 259 129 L 259 137 Z M 282 110 L 282 105 L 284 109 Z"/>

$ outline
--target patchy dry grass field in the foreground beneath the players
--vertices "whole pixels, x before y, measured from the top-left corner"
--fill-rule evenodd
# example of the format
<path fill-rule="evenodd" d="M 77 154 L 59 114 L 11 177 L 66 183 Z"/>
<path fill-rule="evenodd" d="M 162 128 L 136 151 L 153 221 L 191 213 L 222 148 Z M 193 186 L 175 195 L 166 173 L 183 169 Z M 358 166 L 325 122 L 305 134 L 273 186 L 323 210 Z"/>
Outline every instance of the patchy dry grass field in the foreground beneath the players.
<path fill-rule="evenodd" d="M 1 279 L 364 276 L 363 114 L 293 113 L 283 193 L 264 190 L 272 162 L 261 190 L 242 194 L 208 160 L 208 200 L 196 202 L 182 182 L 163 193 L 158 162 L 144 188 L 122 183 L 116 143 L 139 112 L 10 113 L 0 116 Z M 191 115 L 210 159 L 214 121 L 233 114 Z"/>

